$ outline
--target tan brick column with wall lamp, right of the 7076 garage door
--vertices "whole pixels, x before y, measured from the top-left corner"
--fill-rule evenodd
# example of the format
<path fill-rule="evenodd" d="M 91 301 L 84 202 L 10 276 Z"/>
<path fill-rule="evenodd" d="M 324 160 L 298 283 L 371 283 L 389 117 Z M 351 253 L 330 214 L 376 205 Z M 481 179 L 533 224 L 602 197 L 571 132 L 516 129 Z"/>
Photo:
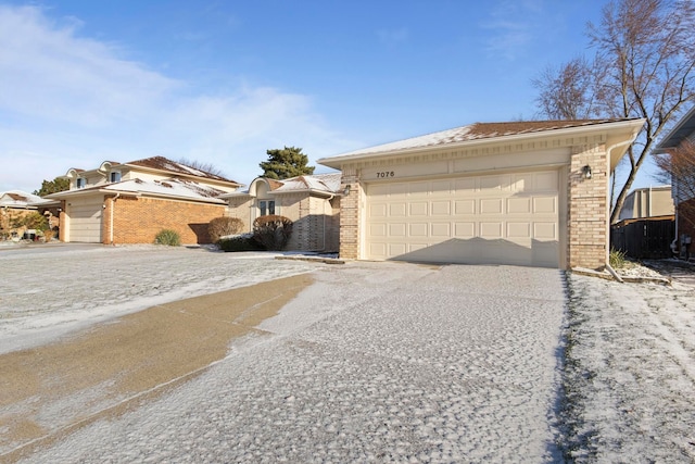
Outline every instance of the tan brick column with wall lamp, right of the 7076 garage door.
<path fill-rule="evenodd" d="M 585 178 L 590 166 L 591 178 Z M 568 250 L 570 267 L 603 268 L 608 259 L 606 147 L 572 148 L 569 173 Z"/>

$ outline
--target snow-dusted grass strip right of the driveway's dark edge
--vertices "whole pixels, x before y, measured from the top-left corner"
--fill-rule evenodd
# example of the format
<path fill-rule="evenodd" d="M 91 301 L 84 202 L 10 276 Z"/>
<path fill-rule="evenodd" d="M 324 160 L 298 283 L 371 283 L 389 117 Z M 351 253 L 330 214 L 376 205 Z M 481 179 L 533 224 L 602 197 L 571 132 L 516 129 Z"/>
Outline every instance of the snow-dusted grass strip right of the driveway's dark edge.
<path fill-rule="evenodd" d="M 694 291 L 569 277 L 563 416 L 576 462 L 695 462 Z"/>

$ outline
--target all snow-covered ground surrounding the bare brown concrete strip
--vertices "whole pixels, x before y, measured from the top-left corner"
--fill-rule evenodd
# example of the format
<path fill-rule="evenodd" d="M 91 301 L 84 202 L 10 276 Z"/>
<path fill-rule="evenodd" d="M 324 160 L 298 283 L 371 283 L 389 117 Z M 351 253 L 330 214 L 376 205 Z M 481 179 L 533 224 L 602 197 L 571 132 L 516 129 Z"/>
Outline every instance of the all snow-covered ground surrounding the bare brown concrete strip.
<path fill-rule="evenodd" d="M 316 278 L 261 325 L 268 335 L 26 461 L 695 462 L 693 287 L 247 256 L 0 252 L 0 352 L 36 342 L 37 329 L 53 334 L 53 322 L 92 323 L 94 301 L 104 317 L 293 273 Z"/>

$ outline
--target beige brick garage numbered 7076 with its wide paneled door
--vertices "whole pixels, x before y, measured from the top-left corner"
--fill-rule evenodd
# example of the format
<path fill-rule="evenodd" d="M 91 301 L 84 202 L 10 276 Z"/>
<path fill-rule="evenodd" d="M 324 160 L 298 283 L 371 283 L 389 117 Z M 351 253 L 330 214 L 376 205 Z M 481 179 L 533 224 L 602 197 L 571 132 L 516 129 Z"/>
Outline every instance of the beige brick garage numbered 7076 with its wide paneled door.
<path fill-rule="evenodd" d="M 478 123 L 318 160 L 349 191 L 340 255 L 603 268 L 609 177 L 643 124 Z"/>

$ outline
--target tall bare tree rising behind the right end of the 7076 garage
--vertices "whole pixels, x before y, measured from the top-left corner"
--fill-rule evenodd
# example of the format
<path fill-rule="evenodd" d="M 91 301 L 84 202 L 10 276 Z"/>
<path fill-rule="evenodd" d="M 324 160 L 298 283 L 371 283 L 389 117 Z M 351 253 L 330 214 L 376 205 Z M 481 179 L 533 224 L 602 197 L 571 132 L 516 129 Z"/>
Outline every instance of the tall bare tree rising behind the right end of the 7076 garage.
<path fill-rule="evenodd" d="M 643 117 L 644 128 L 628 150 L 630 171 L 615 199 L 610 222 L 617 221 L 637 171 L 655 140 L 683 105 L 695 100 L 695 3 L 692 0 L 616 0 L 603 10 L 598 25 L 589 23 L 595 50 L 591 64 L 572 71 L 573 60 L 556 74 L 541 75 L 540 111 L 548 117 L 583 114 L 594 117 Z M 591 70 L 591 78 L 584 75 Z M 586 84 L 589 83 L 589 84 Z M 570 90 L 553 92 L 563 84 Z M 577 97 L 577 92 L 581 96 Z M 577 113 L 560 100 L 578 99 Z M 551 103 L 543 103 L 544 100 Z M 556 100 L 556 101 L 553 101 Z M 614 178 L 615 179 L 615 178 Z"/>

